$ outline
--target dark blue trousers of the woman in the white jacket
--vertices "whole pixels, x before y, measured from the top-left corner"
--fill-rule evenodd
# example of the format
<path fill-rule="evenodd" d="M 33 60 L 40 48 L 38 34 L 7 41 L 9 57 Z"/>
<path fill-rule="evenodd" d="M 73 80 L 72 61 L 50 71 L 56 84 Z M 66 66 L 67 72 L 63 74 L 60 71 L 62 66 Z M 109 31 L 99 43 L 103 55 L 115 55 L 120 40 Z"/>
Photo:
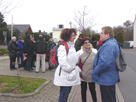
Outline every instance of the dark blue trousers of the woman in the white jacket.
<path fill-rule="evenodd" d="M 60 86 L 60 95 L 58 102 L 67 102 L 71 88 L 72 86 Z"/>

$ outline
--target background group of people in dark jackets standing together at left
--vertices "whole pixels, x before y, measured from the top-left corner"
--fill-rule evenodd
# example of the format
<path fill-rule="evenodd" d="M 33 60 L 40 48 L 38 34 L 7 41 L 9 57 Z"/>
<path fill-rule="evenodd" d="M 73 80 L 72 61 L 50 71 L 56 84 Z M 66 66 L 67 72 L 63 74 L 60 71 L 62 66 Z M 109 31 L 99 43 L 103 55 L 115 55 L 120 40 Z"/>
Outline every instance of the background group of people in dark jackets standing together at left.
<path fill-rule="evenodd" d="M 44 40 L 42 35 L 39 35 L 37 41 L 30 34 L 27 35 L 25 41 L 21 37 L 18 38 L 18 41 L 16 41 L 15 36 L 12 37 L 8 44 L 10 70 L 17 69 L 15 67 L 16 58 L 18 68 L 24 67 L 27 72 L 32 72 L 33 67 L 36 67 L 36 73 L 39 73 L 40 67 L 43 73 L 47 70 L 52 70 L 51 67 L 45 67 L 45 61 L 49 61 L 49 52 L 54 46 L 55 43 L 52 38 Z M 24 56 L 26 59 L 24 59 Z"/>

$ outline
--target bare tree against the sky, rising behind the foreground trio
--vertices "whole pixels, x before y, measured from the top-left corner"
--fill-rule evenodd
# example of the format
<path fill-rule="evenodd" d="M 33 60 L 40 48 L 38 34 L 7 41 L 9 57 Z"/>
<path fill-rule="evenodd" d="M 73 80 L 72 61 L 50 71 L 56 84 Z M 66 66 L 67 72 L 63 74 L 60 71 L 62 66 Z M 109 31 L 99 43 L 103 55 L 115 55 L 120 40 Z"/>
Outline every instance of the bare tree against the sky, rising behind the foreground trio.
<path fill-rule="evenodd" d="M 92 27 L 94 27 L 97 23 L 95 23 L 96 16 L 89 15 L 90 11 L 86 10 L 87 6 L 84 6 L 83 11 L 75 11 L 74 13 L 74 21 L 75 21 L 75 28 L 79 28 L 84 34 L 86 34 L 86 30 L 90 29 L 92 30 Z"/>

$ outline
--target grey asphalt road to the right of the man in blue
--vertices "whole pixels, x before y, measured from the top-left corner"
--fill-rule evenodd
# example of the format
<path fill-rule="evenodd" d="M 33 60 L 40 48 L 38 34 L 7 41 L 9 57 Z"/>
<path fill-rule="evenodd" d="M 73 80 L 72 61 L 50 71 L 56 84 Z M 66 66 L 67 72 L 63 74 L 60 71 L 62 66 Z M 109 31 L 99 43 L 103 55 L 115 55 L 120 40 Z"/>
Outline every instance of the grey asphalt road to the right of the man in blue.
<path fill-rule="evenodd" d="M 125 102 L 136 102 L 136 50 L 124 49 L 127 69 L 120 72 L 119 89 Z"/>

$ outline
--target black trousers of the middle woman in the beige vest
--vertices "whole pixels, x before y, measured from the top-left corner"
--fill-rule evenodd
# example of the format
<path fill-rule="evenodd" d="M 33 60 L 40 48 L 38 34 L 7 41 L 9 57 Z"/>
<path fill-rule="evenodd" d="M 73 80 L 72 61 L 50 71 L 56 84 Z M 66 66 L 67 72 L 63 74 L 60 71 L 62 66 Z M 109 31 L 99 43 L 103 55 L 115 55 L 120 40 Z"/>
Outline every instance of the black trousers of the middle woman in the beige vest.
<path fill-rule="evenodd" d="M 90 83 L 88 83 L 88 85 L 89 85 L 90 93 L 92 95 L 93 102 L 97 102 L 96 91 L 95 91 L 95 83 L 90 82 Z M 87 91 L 87 82 L 81 81 L 82 102 L 86 102 L 86 91 Z"/>

